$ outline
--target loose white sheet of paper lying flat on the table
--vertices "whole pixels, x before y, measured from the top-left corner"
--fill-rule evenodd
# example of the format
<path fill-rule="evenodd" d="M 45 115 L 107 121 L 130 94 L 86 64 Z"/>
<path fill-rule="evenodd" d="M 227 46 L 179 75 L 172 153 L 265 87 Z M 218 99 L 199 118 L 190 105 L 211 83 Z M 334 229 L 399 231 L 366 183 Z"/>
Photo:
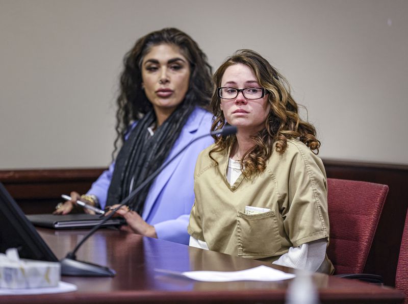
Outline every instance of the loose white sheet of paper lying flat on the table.
<path fill-rule="evenodd" d="M 295 277 L 295 274 L 286 273 L 268 266 L 258 266 L 240 271 L 185 271 L 176 272 L 164 269 L 155 269 L 172 275 L 180 275 L 203 282 L 231 282 L 231 281 L 281 281 Z"/>

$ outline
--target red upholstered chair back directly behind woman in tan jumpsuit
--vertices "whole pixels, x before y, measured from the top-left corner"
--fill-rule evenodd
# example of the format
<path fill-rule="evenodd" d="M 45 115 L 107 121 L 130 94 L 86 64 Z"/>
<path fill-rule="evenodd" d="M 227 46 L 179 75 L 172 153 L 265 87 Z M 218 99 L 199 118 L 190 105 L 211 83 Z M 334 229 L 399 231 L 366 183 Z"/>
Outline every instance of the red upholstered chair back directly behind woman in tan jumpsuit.
<path fill-rule="evenodd" d="M 335 274 L 363 272 L 387 193 L 387 185 L 327 179 L 327 256 Z"/>

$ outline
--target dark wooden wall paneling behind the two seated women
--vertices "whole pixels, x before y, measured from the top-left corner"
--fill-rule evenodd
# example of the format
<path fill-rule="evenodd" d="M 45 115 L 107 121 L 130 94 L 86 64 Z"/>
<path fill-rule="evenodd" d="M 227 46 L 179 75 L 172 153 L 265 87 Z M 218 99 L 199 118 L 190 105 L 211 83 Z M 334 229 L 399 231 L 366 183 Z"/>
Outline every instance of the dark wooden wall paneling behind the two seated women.
<path fill-rule="evenodd" d="M 403 224 L 408 207 L 408 166 L 323 160 L 327 177 L 390 187 L 365 272 L 382 275 L 394 286 Z M 63 193 L 85 193 L 104 168 L 0 171 L 0 181 L 27 214 L 48 213 Z M 352 212 L 352 210 L 350 210 Z"/>

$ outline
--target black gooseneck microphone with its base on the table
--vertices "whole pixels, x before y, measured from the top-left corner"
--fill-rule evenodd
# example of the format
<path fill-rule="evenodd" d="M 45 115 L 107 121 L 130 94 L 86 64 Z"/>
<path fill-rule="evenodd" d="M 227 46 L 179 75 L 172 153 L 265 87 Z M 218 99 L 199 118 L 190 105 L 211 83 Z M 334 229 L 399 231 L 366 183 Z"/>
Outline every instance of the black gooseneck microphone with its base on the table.
<path fill-rule="evenodd" d="M 95 225 L 91 231 L 75 246 L 75 248 L 68 252 L 67 256 L 60 261 L 61 263 L 61 273 L 62 275 L 74 275 L 74 276 L 114 276 L 116 274 L 115 270 L 110 269 L 106 266 L 101 266 L 97 264 L 92 264 L 89 262 L 78 261 L 76 257 L 76 253 L 78 249 L 82 246 L 82 244 L 95 233 L 96 230 L 99 229 L 101 225 L 103 225 L 107 220 L 109 220 L 115 212 L 121 208 L 122 206 L 126 205 L 137 193 L 140 192 L 151 180 L 156 178 L 156 176 L 165 168 L 167 167 L 177 156 L 179 156 L 186 148 L 188 148 L 193 142 L 204 138 L 209 135 L 220 135 L 220 136 L 227 136 L 237 133 L 237 127 L 233 125 L 225 125 L 224 128 L 221 130 L 216 130 L 210 132 L 210 134 L 201 135 L 199 137 L 194 138 L 190 141 L 187 145 L 185 145 L 179 152 L 177 152 L 171 159 L 167 162 L 162 164 L 155 172 L 151 173 L 146 180 L 144 180 L 136 189 L 134 189 L 129 195 L 120 202 L 120 205 L 112 210 L 112 213 L 104 217 L 104 220 L 101 221 L 99 224 Z"/>

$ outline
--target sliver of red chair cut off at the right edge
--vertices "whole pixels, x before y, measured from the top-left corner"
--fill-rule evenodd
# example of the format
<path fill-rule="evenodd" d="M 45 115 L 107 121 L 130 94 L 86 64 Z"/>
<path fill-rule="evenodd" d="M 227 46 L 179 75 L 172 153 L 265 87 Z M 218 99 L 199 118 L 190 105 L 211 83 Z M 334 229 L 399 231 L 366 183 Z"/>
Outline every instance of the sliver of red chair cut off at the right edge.
<path fill-rule="evenodd" d="M 404 232 L 402 233 L 401 247 L 399 249 L 395 288 L 398 288 L 404 293 L 404 303 L 408 304 L 408 212 L 405 217 Z"/>

